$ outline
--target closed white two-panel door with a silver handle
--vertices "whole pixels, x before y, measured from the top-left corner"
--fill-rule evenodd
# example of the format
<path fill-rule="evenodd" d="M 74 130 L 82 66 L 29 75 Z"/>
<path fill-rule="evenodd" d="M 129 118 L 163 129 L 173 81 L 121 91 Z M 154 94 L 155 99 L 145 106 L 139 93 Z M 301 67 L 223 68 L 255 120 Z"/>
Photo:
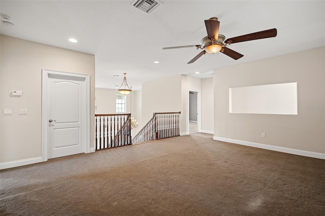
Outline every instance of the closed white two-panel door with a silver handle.
<path fill-rule="evenodd" d="M 86 82 L 84 78 L 48 74 L 47 158 L 86 150 Z"/>

